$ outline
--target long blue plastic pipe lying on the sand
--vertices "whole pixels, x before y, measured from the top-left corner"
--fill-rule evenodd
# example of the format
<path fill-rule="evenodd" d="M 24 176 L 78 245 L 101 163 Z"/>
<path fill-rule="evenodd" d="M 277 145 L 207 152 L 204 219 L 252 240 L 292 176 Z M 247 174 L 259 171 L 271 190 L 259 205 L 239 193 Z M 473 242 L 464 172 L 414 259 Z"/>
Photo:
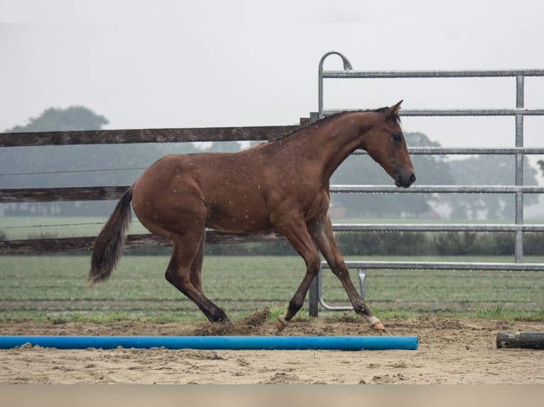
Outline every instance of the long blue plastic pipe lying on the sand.
<path fill-rule="evenodd" d="M 0 349 L 30 343 L 58 349 L 165 347 L 210 350 L 416 350 L 417 336 L 60 336 L 0 335 Z"/>

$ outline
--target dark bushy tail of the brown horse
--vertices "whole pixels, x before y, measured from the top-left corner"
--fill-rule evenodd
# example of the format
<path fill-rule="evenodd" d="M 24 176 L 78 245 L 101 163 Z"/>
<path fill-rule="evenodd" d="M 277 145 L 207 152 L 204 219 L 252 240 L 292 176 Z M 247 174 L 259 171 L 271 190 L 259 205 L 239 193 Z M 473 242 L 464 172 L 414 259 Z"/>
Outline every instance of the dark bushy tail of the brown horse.
<path fill-rule="evenodd" d="M 123 251 L 125 232 L 131 221 L 132 186 L 123 194 L 106 225 L 94 240 L 89 284 L 108 279 Z"/>

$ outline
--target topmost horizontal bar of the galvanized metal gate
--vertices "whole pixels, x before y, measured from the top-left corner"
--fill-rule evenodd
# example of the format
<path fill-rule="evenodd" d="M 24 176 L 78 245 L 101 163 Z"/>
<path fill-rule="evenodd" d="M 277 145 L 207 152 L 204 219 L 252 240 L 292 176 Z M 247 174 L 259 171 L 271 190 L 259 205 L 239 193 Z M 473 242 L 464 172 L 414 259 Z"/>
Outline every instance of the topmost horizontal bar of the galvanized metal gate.
<path fill-rule="evenodd" d="M 499 69 L 467 71 L 322 71 L 324 79 L 493 78 L 541 77 L 544 69 Z"/>

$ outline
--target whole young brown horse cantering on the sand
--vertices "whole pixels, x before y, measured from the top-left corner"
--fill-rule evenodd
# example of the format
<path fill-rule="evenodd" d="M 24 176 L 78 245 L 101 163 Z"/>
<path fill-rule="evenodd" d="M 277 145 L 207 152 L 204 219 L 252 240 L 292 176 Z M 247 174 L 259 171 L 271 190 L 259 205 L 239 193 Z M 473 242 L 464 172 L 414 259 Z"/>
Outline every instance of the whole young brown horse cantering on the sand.
<path fill-rule="evenodd" d="M 227 315 L 202 292 L 206 228 L 230 232 L 279 230 L 306 262 L 306 274 L 276 322 L 283 330 L 303 306 L 320 270 L 322 252 L 342 281 L 354 310 L 377 330 L 383 324 L 357 293 L 332 234 L 329 180 L 358 148 L 407 188 L 415 181 L 398 111 L 401 102 L 374 111 L 338 113 L 285 138 L 234 153 L 167 155 L 148 167 L 122 196 L 94 242 L 89 282 L 109 277 L 121 255 L 131 211 L 156 235 L 172 240 L 166 279 L 210 321 Z"/>

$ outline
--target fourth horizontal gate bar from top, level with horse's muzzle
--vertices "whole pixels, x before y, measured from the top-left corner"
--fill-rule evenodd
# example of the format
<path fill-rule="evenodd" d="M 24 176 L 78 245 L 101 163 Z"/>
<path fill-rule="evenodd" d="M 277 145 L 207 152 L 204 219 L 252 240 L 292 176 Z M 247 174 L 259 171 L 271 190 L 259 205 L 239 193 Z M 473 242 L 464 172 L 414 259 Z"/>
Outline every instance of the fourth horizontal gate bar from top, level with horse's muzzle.
<path fill-rule="evenodd" d="M 544 186 L 515 185 L 412 185 L 398 188 L 388 185 L 331 185 L 331 192 L 343 193 L 396 193 L 396 194 L 544 194 Z"/>

